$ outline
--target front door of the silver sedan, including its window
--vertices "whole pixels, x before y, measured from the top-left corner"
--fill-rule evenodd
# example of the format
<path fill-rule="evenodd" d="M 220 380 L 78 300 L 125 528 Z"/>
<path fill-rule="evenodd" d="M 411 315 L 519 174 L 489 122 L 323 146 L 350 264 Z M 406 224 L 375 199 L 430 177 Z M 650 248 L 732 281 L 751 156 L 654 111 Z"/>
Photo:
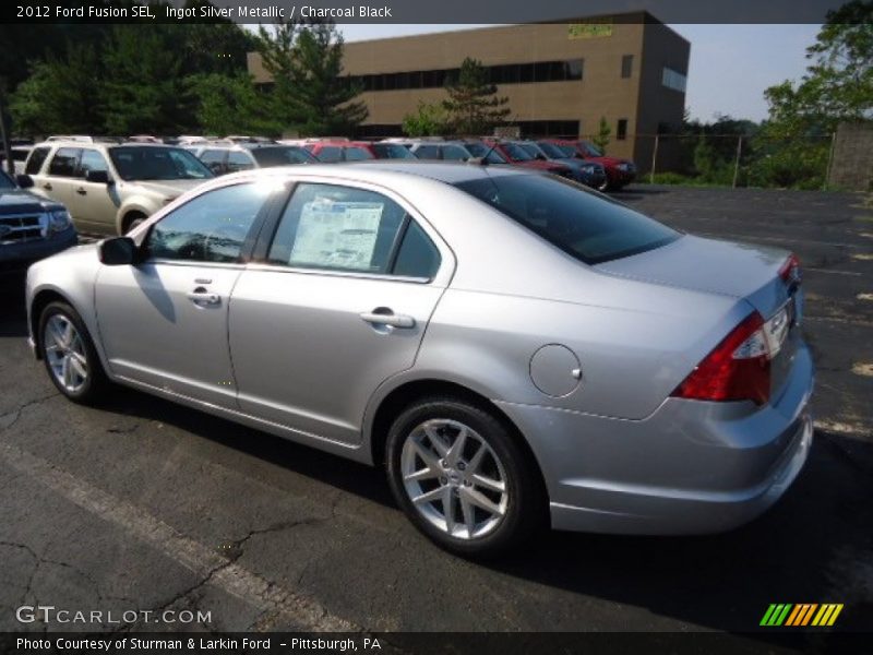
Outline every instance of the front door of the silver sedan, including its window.
<path fill-rule="evenodd" d="M 97 320 L 115 374 L 236 407 L 228 301 L 273 192 L 253 182 L 207 191 L 152 227 L 141 263 L 100 269 Z"/>

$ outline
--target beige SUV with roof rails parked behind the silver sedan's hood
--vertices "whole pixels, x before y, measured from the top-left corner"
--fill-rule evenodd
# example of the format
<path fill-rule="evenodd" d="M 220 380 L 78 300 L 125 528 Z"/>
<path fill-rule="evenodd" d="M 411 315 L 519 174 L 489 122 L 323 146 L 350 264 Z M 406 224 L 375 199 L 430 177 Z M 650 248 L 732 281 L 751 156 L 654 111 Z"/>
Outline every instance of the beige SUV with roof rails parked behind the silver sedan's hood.
<path fill-rule="evenodd" d="M 67 205 L 80 231 L 123 235 L 215 177 L 192 153 L 167 145 L 41 143 L 24 172 L 34 190 Z"/>

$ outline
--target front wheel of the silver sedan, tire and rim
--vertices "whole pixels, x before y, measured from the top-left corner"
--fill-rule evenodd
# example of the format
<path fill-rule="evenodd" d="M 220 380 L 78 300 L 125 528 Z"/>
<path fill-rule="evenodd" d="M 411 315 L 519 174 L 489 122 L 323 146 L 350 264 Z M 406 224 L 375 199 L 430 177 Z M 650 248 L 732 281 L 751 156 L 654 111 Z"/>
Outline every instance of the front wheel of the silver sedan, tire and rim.
<path fill-rule="evenodd" d="M 107 385 L 82 318 L 65 302 L 51 302 L 39 318 L 39 347 L 49 378 L 76 403 L 94 403 Z"/>

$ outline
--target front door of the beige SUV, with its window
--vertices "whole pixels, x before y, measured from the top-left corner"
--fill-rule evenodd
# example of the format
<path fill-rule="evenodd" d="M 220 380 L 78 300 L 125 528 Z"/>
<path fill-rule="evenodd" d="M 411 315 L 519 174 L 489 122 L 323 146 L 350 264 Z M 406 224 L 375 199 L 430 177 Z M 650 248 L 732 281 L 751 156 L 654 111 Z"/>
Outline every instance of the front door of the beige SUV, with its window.
<path fill-rule="evenodd" d="M 105 172 L 111 176 L 109 165 L 103 153 L 93 148 L 83 148 L 76 169 L 76 182 L 72 184 L 72 193 L 67 209 L 76 225 L 83 231 L 96 231 L 115 235 L 116 214 L 120 205 L 115 184 L 87 181 L 87 174 Z"/>

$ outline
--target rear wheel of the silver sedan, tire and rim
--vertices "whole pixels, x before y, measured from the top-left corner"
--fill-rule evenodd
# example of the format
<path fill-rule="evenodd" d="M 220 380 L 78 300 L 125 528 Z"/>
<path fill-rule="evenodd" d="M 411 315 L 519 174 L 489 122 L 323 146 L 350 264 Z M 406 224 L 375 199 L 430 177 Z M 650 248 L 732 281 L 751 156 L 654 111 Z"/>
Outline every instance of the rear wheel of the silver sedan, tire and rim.
<path fill-rule="evenodd" d="M 386 457 L 398 504 L 446 550 L 494 556 L 543 525 L 547 503 L 529 457 L 478 406 L 449 397 L 409 406 L 392 425 Z"/>

